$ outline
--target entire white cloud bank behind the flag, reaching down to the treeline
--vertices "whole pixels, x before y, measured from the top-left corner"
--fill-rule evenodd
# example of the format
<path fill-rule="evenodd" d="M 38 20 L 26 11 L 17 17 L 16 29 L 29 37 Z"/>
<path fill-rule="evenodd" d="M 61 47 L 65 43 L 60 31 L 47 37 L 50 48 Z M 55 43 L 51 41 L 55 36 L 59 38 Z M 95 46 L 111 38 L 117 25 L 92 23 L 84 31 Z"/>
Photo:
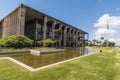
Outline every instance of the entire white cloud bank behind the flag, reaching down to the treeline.
<path fill-rule="evenodd" d="M 117 10 L 120 10 L 120 8 Z M 107 29 L 107 23 L 109 30 Z M 94 23 L 94 28 L 95 39 L 104 37 L 104 39 L 114 41 L 117 45 L 120 45 L 120 16 L 104 14 Z"/>

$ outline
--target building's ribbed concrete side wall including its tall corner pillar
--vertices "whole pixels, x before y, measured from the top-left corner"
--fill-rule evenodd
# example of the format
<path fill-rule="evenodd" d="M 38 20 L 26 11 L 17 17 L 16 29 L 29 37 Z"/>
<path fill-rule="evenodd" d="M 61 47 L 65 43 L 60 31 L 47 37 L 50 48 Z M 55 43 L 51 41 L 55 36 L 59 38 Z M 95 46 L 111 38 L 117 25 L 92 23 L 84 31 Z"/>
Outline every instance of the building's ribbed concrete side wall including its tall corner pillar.
<path fill-rule="evenodd" d="M 6 16 L 3 23 L 2 37 L 10 35 L 24 35 L 25 7 L 22 5 Z"/>

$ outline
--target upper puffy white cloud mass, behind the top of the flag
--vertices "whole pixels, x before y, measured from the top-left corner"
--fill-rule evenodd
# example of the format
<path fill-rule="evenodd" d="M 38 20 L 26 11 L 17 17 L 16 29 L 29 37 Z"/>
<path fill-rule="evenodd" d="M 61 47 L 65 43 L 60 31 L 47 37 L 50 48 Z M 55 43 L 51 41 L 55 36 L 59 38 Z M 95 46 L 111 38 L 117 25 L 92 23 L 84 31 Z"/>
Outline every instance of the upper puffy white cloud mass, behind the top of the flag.
<path fill-rule="evenodd" d="M 109 14 L 104 14 L 100 17 L 97 23 L 94 24 L 94 27 L 107 27 L 107 23 L 109 28 L 118 29 L 120 28 L 120 16 L 110 16 Z"/>

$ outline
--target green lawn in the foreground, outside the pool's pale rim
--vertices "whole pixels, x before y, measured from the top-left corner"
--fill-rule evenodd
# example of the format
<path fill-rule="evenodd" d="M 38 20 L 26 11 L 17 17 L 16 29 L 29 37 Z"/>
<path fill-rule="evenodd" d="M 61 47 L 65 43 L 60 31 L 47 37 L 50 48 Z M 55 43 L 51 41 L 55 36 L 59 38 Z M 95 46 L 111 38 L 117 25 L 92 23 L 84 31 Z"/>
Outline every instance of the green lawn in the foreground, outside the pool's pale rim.
<path fill-rule="evenodd" d="M 0 80 L 120 80 L 120 51 L 102 49 L 44 70 L 30 72 L 8 60 L 0 60 Z"/>

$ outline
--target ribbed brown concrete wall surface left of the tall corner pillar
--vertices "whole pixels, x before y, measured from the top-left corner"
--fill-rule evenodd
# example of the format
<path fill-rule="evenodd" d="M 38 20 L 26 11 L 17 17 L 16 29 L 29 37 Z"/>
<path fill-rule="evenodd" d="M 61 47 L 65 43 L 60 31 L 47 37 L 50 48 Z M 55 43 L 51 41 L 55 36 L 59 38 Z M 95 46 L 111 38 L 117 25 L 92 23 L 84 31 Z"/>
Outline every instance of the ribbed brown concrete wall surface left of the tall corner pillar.
<path fill-rule="evenodd" d="M 19 12 L 20 9 L 18 8 L 4 18 L 3 35 L 2 35 L 3 37 L 10 36 L 13 34 L 18 34 Z"/>

